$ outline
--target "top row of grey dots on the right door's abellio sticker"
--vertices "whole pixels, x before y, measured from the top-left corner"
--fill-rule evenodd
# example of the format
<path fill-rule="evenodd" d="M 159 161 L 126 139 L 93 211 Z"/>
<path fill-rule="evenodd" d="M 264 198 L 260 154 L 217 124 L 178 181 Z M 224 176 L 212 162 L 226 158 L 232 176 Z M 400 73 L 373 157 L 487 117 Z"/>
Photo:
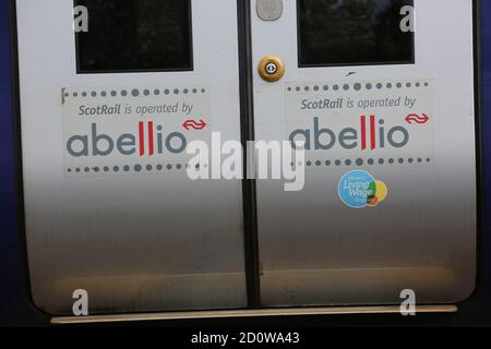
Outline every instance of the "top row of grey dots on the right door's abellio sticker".
<path fill-rule="evenodd" d="M 288 92 L 327 92 L 327 91 L 374 91 L 374 89 L 400 89 L 411 87 L 429 87 L 428 81 L 398 81 L 398 82 L 355 82 L 355 83 L 338 83 L 338 84 L 314 84 L 314 85 L 297 85 L 295 87 L 288 86 Z"/>

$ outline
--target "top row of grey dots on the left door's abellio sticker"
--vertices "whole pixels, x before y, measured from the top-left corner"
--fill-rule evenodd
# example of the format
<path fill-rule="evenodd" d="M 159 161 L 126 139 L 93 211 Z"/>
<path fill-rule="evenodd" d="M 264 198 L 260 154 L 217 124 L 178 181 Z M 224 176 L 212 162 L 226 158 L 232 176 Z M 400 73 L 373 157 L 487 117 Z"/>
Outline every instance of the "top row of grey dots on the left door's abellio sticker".
<path fill-rule="evenodd" d="M 206 94 L 207 89 L 204 87 L 185 87 L 185 88 L 122 88 L 109 91 L 75 91 L 72 93 L 64 93 L 64 97 L 73 98 L 96 98 L 96 97 L 151 97 L 151 96 L 170 96 L 170 95 L 197 95 Z"/>

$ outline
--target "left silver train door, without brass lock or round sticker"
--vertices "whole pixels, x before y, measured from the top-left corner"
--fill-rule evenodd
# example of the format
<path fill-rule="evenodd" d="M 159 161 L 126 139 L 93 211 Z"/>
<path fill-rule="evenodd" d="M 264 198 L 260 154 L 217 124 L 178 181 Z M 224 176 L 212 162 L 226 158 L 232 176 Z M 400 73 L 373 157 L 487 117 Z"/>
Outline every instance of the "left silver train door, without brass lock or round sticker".
<path fill-rule="evenodd" d="M 241 182 L 190 180 L 185 152 L 240 140 L 236 1 L 19 0 L 16 22 L 34 303 L 246 306 Z"/>

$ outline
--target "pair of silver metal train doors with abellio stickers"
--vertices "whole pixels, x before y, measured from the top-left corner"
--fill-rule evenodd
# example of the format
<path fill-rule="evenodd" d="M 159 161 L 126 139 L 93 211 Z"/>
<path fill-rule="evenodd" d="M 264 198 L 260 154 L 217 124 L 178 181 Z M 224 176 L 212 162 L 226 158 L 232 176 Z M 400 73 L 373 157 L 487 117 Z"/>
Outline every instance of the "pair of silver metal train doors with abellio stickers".
<path fill-rule="evenodd" d="M 15 7 L 21 198 L 40 310 L 70 314 L 75 290 L 92 314 L 472 292 L 472 1 Z M 223 168 L 227 142 L 253 140 L 270 155 L 295 145 L 280 156 L 295 178 L 204 178 Z M 209 156 L 190 152 L 200 145 Z M 230 170 L 261 172 L 248 159 Z"/>

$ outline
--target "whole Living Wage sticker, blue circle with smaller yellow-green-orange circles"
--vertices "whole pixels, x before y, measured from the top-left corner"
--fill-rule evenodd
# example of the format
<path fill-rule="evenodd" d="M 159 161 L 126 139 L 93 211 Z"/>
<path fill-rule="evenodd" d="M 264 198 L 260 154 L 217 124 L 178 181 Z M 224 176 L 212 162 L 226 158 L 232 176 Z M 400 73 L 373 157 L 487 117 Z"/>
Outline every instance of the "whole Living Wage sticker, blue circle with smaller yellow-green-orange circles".
<path fill-rule="evenodd" d="M 387 185 L 363 170 L 349 171 L 339 180 L 337 192 L 346 206 L 374 207 L 387 197 Z"/>

